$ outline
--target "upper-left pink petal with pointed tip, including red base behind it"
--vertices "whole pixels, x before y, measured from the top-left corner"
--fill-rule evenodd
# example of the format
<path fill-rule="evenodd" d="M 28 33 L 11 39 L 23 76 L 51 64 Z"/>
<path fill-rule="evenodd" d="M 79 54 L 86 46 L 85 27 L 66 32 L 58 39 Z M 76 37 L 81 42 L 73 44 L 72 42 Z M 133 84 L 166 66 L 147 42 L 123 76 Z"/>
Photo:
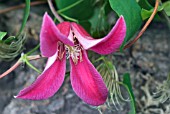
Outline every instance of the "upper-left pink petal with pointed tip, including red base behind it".
<path fill-rule="evenodd" d="M 62 26 L 62 28 L 60 26 Z M 73 45 L 73 41 L 70 41 L 67 38 L 69 33 L 69 22 L 60 23 L 58 27 L 56 27 L 50 16 L 45 13 L 40 32 L 40 50 L 42 55 L 46 57 L 54 55 L 57 50 L 58 41 L 68 45 Z"/>

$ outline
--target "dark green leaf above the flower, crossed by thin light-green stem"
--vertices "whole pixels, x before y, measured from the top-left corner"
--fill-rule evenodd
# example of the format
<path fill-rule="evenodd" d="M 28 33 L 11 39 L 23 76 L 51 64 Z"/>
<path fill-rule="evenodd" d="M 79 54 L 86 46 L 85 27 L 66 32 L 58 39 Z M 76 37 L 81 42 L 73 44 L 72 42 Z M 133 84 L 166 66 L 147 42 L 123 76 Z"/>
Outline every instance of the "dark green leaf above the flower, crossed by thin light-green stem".
<path fill-rule="evenodd" d="M 91 0 L 55 0 L 55 2 L 59 9 L 59 14 L 62 13 L 78 20 L 86 20 L 93 15 Z M 62 11 L 63 9 L 66 10 Z"/>

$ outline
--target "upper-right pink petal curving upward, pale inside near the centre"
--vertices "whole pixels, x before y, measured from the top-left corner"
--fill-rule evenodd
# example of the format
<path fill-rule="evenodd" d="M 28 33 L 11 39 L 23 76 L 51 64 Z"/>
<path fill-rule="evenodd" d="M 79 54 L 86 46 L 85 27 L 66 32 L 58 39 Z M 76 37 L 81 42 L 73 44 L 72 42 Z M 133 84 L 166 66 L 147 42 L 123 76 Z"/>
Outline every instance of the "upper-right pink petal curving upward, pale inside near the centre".
<path fill-rule="evenodd" d="M 76 23 L 72 23 L 72 29 L 85 50 L 90 49 L 99 54 L 110 54 L 115 52 L 126 36 L 126 23 L 123 16 L 118 19 L 110 33 L 101 39 L 93 39 Z"/>

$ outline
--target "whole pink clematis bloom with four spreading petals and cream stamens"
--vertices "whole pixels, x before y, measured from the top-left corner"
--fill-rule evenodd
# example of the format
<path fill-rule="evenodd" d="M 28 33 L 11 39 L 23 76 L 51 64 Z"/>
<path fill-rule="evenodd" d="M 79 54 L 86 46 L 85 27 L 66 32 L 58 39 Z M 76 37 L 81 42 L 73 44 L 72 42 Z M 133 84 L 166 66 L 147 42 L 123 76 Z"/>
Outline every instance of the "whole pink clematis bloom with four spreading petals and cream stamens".
<path fill-rule="evenodd" d="M 16 98 L 42 100 L 53 96 L 61 87 L 66 72 L 66 58 L 70 60 L 70 80 L 75 93 L 87 104 L 104 104 L 108 90 L 87 57 L 86 50 L 106 55 L 115 52 L 126 34 L 126 24 L 121 16 L 110 33 L 101 39 L 92 38 L 74 22 L 57 26 L 46 13 L 40 33 L 40 50 L 48 57 L 46 67 L 37 80 L 19 92 Z"/>

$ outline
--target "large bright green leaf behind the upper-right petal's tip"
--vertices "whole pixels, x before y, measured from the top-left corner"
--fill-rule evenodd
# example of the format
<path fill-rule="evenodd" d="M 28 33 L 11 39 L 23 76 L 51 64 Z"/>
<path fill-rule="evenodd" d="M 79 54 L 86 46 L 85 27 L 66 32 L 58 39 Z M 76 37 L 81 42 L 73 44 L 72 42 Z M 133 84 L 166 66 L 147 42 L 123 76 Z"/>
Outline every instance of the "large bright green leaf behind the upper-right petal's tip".
<path fill-rule="evenodd" d="M 142 24 L 141 8 L 136 0 L 109 0 L 111 8 L 120 16 L 123 15 L 126 21 L 126 37 L 121 46 L 129 41 L 138 31 Z"/>

